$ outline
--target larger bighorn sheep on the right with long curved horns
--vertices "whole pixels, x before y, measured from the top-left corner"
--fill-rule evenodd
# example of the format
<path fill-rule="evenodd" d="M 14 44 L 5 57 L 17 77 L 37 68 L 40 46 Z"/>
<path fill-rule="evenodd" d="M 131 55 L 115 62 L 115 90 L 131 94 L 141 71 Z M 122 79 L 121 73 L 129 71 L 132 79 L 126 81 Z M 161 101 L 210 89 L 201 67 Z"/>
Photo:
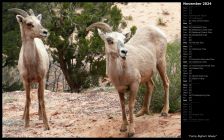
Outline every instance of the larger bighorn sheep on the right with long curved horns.
<path fill-rule="evenodd" d="M 137 113 L 137 117 L 149 113 L 154 88 L 152 76 L 156 69 L 162 78 L 165 91 L 164 107 L 161 115 L 168 115 L 169 79 L 166 74 L 166 37 L 158 28 L 148 26 L 137 30 L 136 34 L 124 44 L 125 36 L 122 33 L 113 32 L 106 23 L 93 23 L 86 30 L 89 31 L 94 27 L 98 28 L 98 34 L 105 43 L 108 61 L 107 73 L 119 93 L 123 119 L 120 131 L 126 131 L 128 126 L 128 136 L 133 136 L 135 133 L 133 108 L 139 84 L 146 85 L 147 93 L 144 96 L 143 107 Z M 128 124 L 125 113 L 124 93 L 126 91 L 129 91 L 130 94 L 130 124 Z"/>

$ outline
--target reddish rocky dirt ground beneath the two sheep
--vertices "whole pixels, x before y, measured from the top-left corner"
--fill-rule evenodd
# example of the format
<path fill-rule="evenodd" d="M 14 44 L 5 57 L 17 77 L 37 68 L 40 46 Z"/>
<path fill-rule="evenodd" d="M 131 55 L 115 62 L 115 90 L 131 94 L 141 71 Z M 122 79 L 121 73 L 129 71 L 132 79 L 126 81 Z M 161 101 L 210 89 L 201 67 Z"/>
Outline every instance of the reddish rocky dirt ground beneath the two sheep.
<path fill-rule="evenodd" d="M 114 90 L 98 88 L 83 94 L 45 91 L 50 130 L 38 120 L 36 90 L 31 93 L 30 127 L 21 119 L 25 103 L 22 91 L 3 93 L 3 137 L 127 137 L 120 132 L 121 110 Z M 135 118 L 134 137 L 177 137 L 180 114 Z"/>

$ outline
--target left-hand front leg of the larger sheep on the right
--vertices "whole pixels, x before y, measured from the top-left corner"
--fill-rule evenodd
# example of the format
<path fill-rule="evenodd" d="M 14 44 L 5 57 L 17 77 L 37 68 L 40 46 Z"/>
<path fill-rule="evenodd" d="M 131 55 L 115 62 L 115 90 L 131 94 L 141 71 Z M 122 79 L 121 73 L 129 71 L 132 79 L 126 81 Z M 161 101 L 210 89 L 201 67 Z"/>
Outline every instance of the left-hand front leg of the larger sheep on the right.
<path fill-rule="evenodd" d="M 120 104 L 121 104 L 121 109 L 122 109 L 122 120 L 123 120 L 120 131 L 124 132 L 124 131 L 127 131 L 127 125 L 128 125 L 127 116 L 126 116 L 126 112 L 125 112 L 124 93 L 119 92 L 119 97 L 120 97 Z"/>

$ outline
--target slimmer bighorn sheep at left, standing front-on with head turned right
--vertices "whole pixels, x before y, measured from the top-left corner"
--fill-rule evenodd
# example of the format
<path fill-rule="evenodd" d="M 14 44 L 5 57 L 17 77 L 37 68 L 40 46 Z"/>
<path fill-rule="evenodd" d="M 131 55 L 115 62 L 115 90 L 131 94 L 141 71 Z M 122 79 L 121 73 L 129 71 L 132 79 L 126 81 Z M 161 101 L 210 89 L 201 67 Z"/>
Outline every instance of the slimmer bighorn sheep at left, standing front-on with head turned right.
<path fill-rule="evenodd" d="M 41 25 L 42 15 L 34 15 L 32 9 L 29 14 L 21 9 L 11 8 L 15 12 L 20 26 L 22 47 L 19 54 L 18 69 L 26 91 L 26 103 L 23 114 L 25 127 L 29 126 L 30 86 L 32 82 L 38 82 L 39 119 L 43 119 L 44 127 L 49 130 L 44 104 L 44 89 L 46 74 L 49 68 L 49 57 L 46 48 L 40 38 L 48 36 L 48 31 Z"/>

